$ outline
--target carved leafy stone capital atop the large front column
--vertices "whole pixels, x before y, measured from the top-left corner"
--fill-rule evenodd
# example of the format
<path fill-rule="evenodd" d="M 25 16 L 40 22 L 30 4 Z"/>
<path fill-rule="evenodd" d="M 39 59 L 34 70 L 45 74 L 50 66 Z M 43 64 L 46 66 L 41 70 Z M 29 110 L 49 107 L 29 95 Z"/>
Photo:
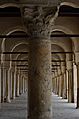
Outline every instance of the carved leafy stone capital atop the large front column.
<path fill-rule="evenodd" d="M 28 6 L 23 8 L 24 23 L 32 37 L 49 37 L 50 21 L 56 7 Z M 53 24 L 53 23 L 52 23 Z"/>

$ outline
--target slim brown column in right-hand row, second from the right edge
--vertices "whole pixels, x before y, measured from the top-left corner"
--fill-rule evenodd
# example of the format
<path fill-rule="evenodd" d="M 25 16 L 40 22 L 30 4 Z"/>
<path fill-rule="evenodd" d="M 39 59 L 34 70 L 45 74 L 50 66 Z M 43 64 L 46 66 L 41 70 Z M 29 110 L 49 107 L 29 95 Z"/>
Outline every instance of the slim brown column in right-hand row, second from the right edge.
<path fill-rule="evenodd" d="M 67 62 L 68 70 L 68 102 L 74 102 L 74 82 L 73 82 L 73 65 L 72 62 Z"/>

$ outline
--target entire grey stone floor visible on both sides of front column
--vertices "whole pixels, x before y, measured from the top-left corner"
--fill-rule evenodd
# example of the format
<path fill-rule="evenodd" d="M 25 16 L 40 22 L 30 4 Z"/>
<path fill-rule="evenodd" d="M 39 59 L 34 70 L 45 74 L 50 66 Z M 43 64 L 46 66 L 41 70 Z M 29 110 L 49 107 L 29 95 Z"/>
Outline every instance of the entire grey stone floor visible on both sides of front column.
<path fill-rule="evenodd" d="M 11 103 L 2 103 L 0 119 L 27 119 L 26 94 L 12 100 Z M 79 119 L 79 109 L 75 104 L 68 103 L 56 95 L 52 95 L 53 118 L 52 119 Z"/>

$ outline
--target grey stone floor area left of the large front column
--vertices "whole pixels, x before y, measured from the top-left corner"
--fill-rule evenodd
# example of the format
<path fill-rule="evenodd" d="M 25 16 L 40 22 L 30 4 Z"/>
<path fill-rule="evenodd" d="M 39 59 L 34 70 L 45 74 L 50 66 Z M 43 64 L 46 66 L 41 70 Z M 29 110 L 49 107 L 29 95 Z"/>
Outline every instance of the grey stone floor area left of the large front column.
<path fill-rule="evenodd" d="M 0 119 L 26 119 L 26 110 L 26 94 L 22 94 L 11 103 L 1 103 Z"/>

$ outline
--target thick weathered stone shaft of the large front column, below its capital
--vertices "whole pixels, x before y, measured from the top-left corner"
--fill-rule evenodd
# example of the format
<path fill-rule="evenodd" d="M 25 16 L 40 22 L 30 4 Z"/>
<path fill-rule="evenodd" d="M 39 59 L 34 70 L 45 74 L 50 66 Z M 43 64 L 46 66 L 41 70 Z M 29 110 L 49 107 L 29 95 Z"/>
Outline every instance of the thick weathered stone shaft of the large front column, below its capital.
<path fill-rule="evenodd" d="M 51 42 L 29 42 L 28 118 L 52 119 Z"/>

